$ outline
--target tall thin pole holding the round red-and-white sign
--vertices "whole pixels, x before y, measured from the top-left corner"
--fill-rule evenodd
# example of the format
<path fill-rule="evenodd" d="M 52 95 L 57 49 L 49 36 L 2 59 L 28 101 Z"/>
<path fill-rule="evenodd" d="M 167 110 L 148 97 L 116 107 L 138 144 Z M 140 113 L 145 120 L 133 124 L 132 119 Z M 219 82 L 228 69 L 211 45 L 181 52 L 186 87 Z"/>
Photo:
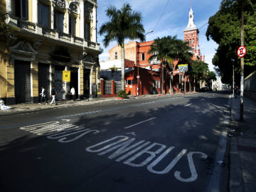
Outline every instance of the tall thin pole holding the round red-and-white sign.
<path fill-rule="evenodd" d="M 241 46 L 244 46 L 244 1 L 241 6 Z M 244 58 L 241 58 L 241 72 L 240 72 L 240 121 L 243 120 L 243 92 L 244 92 Z"/>

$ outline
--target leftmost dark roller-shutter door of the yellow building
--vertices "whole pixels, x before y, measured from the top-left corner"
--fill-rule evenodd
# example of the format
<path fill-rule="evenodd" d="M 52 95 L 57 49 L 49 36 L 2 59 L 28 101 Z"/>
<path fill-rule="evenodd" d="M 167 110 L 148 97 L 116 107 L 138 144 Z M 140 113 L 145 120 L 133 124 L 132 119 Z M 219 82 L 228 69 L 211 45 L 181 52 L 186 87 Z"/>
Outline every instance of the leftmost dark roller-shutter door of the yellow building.
<path fill-rule="evenodd" d="M 16 103 L 31 102 L 31 65 L 28 61 L 14 60 Z"/>

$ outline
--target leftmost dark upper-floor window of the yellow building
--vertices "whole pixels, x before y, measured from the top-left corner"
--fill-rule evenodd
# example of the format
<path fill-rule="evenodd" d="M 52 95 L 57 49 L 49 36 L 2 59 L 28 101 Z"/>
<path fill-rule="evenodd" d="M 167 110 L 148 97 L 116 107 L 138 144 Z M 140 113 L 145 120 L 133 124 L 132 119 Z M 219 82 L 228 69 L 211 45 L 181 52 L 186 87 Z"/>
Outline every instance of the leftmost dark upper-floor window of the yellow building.
<path fill-rule="evenodd" d="M 16 17 L 28 20 L 28 0 L 15 0 L 14 13 Z"/>

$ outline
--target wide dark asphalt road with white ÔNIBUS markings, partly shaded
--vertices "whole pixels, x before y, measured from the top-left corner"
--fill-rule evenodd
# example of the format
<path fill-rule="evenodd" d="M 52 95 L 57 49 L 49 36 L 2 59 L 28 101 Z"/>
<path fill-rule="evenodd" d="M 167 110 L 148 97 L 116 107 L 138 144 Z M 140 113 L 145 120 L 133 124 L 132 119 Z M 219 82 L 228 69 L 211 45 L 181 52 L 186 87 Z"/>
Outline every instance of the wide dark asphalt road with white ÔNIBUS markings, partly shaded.
<path fill-rule="evenodd" d="M 228 101 L 208 92 L 0 117 L 0 191 L 228 191 Z"/>

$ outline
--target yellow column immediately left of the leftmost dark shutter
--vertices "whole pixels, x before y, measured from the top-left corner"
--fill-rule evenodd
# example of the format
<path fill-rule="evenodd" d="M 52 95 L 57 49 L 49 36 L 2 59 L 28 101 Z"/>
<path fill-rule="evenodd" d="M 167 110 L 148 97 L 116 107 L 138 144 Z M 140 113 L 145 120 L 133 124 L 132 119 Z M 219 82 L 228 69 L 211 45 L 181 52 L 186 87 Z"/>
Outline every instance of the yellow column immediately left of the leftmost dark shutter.
<path fill-rule="evenodd" d="M 14 84 L 14 58 L 11 58 L 11 63 L 6 63 L 6 105 L 16 104 L 15 100 L 15 84 Z"/>

